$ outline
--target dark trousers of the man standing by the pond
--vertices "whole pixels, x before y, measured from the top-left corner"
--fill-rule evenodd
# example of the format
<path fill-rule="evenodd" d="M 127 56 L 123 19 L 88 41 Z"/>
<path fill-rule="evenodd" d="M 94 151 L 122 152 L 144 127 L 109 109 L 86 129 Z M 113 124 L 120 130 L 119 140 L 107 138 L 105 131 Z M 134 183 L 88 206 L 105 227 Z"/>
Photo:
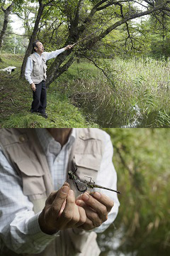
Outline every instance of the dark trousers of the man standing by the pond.
<path fill-rule="evenodd" d="M 42 80 L 36 86 L 35 92 L 33 91 L 33 102 L 31 105 L 31 112 L 45 113 L 45 108 L 47 106 L 47 92 L 45 81 Z"/>

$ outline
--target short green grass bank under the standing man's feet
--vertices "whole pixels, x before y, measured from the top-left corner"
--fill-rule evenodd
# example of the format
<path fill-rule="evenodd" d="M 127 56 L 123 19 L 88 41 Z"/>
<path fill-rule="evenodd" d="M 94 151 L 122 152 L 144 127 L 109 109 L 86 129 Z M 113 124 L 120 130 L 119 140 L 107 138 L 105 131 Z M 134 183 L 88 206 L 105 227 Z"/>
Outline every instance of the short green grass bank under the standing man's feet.
<path fill-rule="evenodd" d="M 87 122 L 81 110 L 53 90 L 47 90 L 48 118 L 31 114 L 32 92 L 28 82 L 19 78 L 23 58 L 2 54 L 1 59 L 0 69 L 8 65 L 17 68 L 11 75 L 0 73 L 0 127 L 98 127 L 94 122 Z"/>

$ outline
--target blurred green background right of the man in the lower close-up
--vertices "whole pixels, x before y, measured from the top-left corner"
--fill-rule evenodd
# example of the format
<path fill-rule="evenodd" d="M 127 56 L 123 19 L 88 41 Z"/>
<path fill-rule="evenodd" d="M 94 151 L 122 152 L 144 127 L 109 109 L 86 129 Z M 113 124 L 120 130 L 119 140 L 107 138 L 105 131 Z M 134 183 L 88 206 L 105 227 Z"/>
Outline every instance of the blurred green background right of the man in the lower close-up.
<path fill-rule="evenodd" d="M 101 256 L 170 255 L 170 129 L 104 129 L 111 135 L 120 209 L 98 235 Z"/>

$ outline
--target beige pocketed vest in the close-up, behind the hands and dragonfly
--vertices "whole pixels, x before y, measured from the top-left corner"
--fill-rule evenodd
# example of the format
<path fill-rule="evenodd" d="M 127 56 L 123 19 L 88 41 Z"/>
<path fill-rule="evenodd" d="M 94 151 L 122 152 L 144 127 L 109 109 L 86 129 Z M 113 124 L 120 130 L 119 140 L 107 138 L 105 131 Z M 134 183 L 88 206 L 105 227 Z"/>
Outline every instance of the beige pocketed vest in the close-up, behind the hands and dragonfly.
<path fill-rule="evenodd" d="M 91 176 L 95 181 L 103 156 L 103 132 L 96 128 L 77 128 L 76 132 L 77 138 L 72 146 L 68 171 L 72 170 L 75 162 L 78 166 L 79 178 Z M 54 186 L 36 132 L 34 129 L 0 129 L 0 145 L 8 161 L 23 180 L 23 194 L 33 202 L 35 213 L 40 212 L 45 206 L 47 196 L 54 191 Z M 18 255 L 7 247 L 4 252 L 4 256 Z M 38 255 L 98 256 L 99 254 L 96 233 L 70 228 L 62 230 L 60 236 Z"/>

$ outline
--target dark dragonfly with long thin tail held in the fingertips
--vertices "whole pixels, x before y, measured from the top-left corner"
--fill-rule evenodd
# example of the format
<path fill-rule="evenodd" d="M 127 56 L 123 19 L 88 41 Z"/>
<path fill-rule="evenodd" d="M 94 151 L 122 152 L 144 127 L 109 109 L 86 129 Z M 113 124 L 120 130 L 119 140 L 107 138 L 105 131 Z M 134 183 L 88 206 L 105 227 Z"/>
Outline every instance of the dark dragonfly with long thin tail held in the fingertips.
<path fill-rule="evenodd" d="M 113 190 L 111 188 L 106 188 L 104 186 L 101 186 L 101 185 L 98 185 L 96 184 L 92 179 L 91 177 L 88 177 L 90 178 L 90 181 L 80 181 L 79 178 L 77 177 L 76 175 L 76 172 L 77 172 L 77 164 L 74 164 L 74 171 L 69 171 L 68 172 L 68 175 L 69 175 L 69 180 L 71 181 L 74 181 L 74 184 L 76 185 L 77 187 L 77 190 L 80 192 L 80 193 L 84 193 L 86 192 L 88 189 L 90 189 L 90 191 L 94 188 L 103 188 L 103 189 L 106 189 L 108 191 L 113 191 L 115 193 L 120 193 L 120 191 L 116 191 L 116 190 Z M 68 181 L 68 180 L 67 180 Z"/>

